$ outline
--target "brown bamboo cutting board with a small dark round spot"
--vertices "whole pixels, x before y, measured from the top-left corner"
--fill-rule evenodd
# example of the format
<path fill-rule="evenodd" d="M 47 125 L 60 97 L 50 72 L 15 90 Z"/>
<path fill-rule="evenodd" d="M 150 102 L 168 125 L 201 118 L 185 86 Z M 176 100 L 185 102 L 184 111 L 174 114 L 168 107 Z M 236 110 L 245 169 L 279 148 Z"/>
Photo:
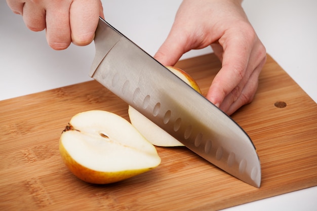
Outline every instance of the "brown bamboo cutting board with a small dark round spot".
<path fill-rule="evenodd" d="M 176 66 L 206 95 L 221 64 L 209 54 Z M 257 148 L 260 188 L 185 147 L 156 147 L 159 167 L 122 182 L 77 179 L 58 151 L 70 118 L 101 109 L 129 120 L 128 105 L 96 81 L 4 100 L 0 108 L 0 210 L 216 210 L 317 185 L 317 105 L 269 55 L 254 101 L 232 115 Z"/>

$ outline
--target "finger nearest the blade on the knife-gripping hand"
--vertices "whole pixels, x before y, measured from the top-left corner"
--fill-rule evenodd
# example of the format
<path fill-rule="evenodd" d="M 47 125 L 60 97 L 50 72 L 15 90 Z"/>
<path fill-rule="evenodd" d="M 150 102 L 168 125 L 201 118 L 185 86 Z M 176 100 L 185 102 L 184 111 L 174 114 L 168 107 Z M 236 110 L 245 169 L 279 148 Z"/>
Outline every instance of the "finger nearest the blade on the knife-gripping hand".
<path fill-rule="evenodd" d="M 100 6 L 100 1 L 96 0 L 78 0 L 72 3 L 69 18 L 73 44 L 85 46 L 92 42 L 99 15 L 103 15 Z"/>

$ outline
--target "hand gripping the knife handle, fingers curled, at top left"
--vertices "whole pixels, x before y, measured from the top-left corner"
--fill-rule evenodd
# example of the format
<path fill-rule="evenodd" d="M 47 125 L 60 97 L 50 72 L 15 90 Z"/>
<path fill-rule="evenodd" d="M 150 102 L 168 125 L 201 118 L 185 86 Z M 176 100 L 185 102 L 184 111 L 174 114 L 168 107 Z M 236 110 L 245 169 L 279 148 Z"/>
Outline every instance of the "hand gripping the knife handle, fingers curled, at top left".
<path fill-rule="evenodd" d="M 46 29 L 48 44 L 55 50 L 66 49 L 70 43 L 90 44 L 99 16 L 103 17 L 100 0 L 7 0 L 7 4 L 32 31 Z"/>

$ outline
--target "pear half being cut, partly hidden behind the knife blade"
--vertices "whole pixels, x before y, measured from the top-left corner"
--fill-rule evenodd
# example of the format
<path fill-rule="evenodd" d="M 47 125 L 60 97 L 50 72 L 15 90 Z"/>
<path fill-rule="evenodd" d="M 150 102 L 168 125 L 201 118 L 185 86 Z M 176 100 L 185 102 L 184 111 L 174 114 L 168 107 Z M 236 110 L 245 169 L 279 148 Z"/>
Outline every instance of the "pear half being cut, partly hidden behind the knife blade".
<path fill-rule="evenodd" d="M 202 93 L 196 81 L 185 71 L 172 66 L 167 66 L 167 68 L 197 92 Z M 132 125 L 153 145 L 161 147 L 184 146 L 130 105 L 128 112 Z"/>

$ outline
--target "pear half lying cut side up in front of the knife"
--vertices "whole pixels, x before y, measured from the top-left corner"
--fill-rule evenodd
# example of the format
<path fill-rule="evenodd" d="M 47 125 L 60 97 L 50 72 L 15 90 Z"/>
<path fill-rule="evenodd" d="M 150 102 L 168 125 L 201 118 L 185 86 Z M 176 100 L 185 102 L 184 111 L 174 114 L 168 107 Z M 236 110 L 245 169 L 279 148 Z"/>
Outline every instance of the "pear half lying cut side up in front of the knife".
<path fill-rule="evenodd" d="M 161 163 L 155 147 L 130 122 L 107 111 L 73 116 L 59 150 L 70 172 L 95 184 L 128 179 Z"/>

